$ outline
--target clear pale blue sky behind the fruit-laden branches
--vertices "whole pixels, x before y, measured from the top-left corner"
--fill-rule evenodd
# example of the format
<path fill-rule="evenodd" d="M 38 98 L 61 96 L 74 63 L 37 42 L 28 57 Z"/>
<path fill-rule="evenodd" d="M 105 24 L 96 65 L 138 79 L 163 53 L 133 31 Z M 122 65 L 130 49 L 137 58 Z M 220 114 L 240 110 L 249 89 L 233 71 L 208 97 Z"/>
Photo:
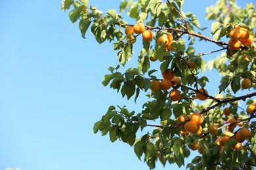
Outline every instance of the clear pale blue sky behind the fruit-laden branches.
<path fill-rule="evenodd" d="M 120 2 L 95 0 L 90 5 L 106 12 L 118 10 Z M 240 0 L 240 5 L 248 2 Z M 108 42 L 99 45 L 90 31 L 83 39 L 60 3 L 0 2 L 0 170 L 148 169 L 128 144 L 93 133 L 108 106 L 140 111 L 146 98 L 141 95 L 135 104 L 102 86 L 108 67 L 119 64 L 116 51 Z M 194 12 L 202 27 L 210 28 L 204 18 L 211 4 L 215 1 L 185 1 L 184 11 Z M 210 52 L 215 47 L 204 42 L 195 48 Z M 157 163 L 156 169 L 163 166 Z"/>

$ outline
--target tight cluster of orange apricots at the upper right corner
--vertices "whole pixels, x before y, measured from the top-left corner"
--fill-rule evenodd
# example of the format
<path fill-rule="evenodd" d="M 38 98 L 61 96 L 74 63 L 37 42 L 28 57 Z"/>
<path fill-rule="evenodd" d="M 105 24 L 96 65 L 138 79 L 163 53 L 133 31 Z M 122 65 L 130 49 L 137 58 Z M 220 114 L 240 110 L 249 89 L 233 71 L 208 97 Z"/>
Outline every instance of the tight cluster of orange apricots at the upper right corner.
<path fill-rule="evenodd" d="M 253 35 L 250 35 L 248 30 L 244 27 L 237 26 L 229 33 L 230 41 L 228 41 L 228 47 L 231 50 L 238 50 L 241 45 L 249 46 L 253 42 Z"/>

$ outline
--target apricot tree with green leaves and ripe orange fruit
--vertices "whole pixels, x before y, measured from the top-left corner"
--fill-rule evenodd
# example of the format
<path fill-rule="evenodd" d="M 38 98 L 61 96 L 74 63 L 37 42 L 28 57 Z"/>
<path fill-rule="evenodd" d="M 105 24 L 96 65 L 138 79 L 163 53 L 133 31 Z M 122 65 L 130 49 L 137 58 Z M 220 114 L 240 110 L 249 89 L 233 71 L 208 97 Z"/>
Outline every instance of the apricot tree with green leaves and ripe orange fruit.
<path fill-rule="evenodd" d="M 193 150 L 200 156 L 186 165 L 189 169 L 253 169 L 255 7 L 253 3 L 238 7 L 235 0 L 217 1 L 207 8 L 206 18 L 212 24 L 211 35 L 205 36 L 206 28 L 196 16 L 182 11 L 184 3 L 123 0 L 119 12 L 134 20 L 127 23 L 115 9 L 102 12 L 89 7 L 88 0 L 62 1 L 62 10 L 73 8 L 70 20 L 79 21 L 82 37 L 91 27 L 98 43 L 113 42 L 117 50 L 120 65 L 109 67 L 102 84 L 135 102 L 141 93 L 148 97 L 139 113 L 110 106 L 93 130 L 108 134 L 112 142 L 119 139 L 133 146 L 139 160 L 144 159 L 150 169 L 158 160 L 181 167 Z M 217 50 L 196 52 L 199 41 L 211 43 Z M 141 44 L 137 57 L 135 44 Z M 210 54 L 221 56 L 205 61 Z M 137 59 L 138 64 L 125 69 L 131 59 Z M 215 93 L 205 88 L 212 83 L 205 75 L 207 68 L 222 76 L 218 86 L 211 85 Z"/>

